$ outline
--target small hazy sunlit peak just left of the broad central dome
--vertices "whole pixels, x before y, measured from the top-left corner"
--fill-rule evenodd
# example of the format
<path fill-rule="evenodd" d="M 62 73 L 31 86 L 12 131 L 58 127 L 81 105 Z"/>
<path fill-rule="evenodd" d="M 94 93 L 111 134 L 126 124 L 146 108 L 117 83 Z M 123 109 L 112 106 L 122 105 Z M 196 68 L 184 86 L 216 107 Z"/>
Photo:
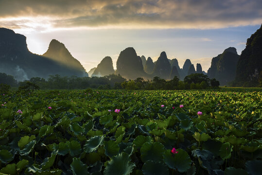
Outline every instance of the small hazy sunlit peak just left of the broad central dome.
<path fill-rule="evenodd" d="M 113 67 L 112 58 L 110 56 L 106 56 L 98 65 L 97 68 L 92 73 L 92 76 L 105 76 L 110 75 L 115 72 Z"/>

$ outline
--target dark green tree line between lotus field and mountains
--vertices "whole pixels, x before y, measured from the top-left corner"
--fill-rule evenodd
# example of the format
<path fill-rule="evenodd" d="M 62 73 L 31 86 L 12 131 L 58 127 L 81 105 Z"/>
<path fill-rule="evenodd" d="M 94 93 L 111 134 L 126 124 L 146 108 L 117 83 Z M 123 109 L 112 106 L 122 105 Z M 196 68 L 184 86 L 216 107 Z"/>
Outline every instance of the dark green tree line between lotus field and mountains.
<path fill-rule="evenodd" d="M 206 89 L 217 88 L 219 82 L 216 79 L 209 79 L 207 75 L 202 73 L 194 73 L 184 78 L 184 81 L 179 81 L 175 76 L 172 80 L 165 80 L 159 77 L 154 77 L 153 80 L 144 80 L 139 77 L 135 80 L 126 80 L 120 74 L 110 74 L 104 77 L 62 77 L 58 74 L 50 75 L 47 79 L 33 77 L 30 80 L 16 82 L 11 75 L 1 75 L 0 84 L 7 84 L 12 87 L 32 87 L 35 85 L 40 89 Z M 5 78 L 2 78 L 5 77 Z M 8 78 L 7 78 L 8 77 Z M 8 80 L 8 81 L 7 81 Z M 31 84 L 29 84 L 29 82 Z"/>

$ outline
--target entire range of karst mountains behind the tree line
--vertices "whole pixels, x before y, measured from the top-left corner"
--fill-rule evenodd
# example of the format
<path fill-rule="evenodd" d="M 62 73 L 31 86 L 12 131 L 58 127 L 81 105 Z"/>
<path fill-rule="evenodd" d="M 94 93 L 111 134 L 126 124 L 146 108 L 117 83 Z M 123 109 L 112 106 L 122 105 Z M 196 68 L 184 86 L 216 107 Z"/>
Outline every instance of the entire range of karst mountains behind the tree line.
<path fill-rule="evenodd" d="M 67 50 L 65 45 L 55 39 L 43 55 L 31 53 L 24 35 L 16 34 L 10 29 L 0 28 L 0 72 L 14 76 L 18 81 L 31 77 L 48 78 L 49 75 L 61 76 L 105 76 L 120 74 L 126 79 L 153 79 L 158 76 L 163 79 L 173 79 L 177 76 L 183 80 L 192 73 L 207 74 L 215 78 L 221 86 L 258 86 L 262 83 L 262 27 L 247 39 L 246 48 L 241 53 L 233 47 L 212 58 L 208 72 L 202 70 L 197 63 L 196 69 L 187 59 L 182 68 L 177 59 L 168 59 L 165 52 L 160 53 L 157 61 L 137 55 L 134 48 L 124 49 L 117 60 L 114 70 L 110 56 L 106 56 L 96 68 L 86 72 L 81 63 Z"/>

